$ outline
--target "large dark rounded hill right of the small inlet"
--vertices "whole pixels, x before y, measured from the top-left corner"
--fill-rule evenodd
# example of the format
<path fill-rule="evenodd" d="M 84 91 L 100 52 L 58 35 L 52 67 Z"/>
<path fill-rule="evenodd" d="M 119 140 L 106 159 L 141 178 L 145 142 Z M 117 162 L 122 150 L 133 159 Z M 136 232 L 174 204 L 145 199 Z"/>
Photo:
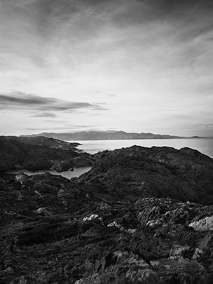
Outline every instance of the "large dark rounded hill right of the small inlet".
<path fill-rule="evenodd" d="M 169 196 L 213 203 L 213 160 L 189 148 L 133 146 L 103 151 L 78 181 L 91 192 L 120 200 Z"/>

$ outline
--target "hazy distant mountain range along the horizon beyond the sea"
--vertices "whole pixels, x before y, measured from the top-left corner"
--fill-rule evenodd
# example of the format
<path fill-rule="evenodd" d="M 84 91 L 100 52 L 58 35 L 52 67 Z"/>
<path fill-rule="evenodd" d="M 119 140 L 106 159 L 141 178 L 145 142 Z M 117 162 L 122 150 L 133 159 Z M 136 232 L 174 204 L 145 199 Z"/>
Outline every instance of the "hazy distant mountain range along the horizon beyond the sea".
<path fill-rule="evenodd" d="M 22 135 L 24 136 L 24 135 Z M 81 131 L 76 133 L 39 133 L 35 135 L 27 135 L 31 137 L 44 136 L 51 137 L 59 140 L 138 140 L 138 139 L 184 139 L 186 137 L 160 135 L 153 133 L 127 133 L 125 131 Z M 187 138 L 202 138 L 198 136 Z"/>

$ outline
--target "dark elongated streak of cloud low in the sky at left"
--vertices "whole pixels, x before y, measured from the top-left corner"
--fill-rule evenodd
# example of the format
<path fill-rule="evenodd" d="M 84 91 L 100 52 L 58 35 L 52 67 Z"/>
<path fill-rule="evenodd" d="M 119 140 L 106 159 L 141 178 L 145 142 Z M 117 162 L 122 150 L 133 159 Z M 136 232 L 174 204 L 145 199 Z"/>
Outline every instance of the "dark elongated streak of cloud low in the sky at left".
<path fill-rule="evenodd" d="M 91 104 L 89 102 L 69 102 L 60 100 L 55 97 L 39 97 L 38 95 L 30 95 L 15 91 L 13 93 L 0 94 L 1 109 L 15 109 L 25 111 L 41 111 L 36 117 L 56 115 L 49 111 L 77 111 L 78 109 L 90 110 L 107 110 L 99 104 Z"/>

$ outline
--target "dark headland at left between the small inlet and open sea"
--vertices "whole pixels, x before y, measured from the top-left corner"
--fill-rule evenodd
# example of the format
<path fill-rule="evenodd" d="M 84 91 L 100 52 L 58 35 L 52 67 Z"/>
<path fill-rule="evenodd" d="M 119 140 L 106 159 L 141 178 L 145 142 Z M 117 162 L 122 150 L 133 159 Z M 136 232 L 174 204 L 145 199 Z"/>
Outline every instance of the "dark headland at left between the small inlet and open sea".
<path fill-rule="evenodd" d="M 0 137 L 0 173 L 22 168 L 26 170 L 56 170 L 92 165 L 92 156 L 78 151 L 78 143 L 68 143 L 47 137 Z"/>

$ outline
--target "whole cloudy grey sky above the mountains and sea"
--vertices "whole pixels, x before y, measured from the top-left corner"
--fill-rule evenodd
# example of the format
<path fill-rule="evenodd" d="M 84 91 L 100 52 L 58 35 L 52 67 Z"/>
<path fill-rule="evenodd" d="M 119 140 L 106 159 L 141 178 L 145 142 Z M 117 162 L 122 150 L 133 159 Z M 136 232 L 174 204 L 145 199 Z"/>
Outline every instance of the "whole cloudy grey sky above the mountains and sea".
<path fill-rule="evenodd" d="M 213 137 L 212 0 L 0 0 L 0 135 Z"/>

